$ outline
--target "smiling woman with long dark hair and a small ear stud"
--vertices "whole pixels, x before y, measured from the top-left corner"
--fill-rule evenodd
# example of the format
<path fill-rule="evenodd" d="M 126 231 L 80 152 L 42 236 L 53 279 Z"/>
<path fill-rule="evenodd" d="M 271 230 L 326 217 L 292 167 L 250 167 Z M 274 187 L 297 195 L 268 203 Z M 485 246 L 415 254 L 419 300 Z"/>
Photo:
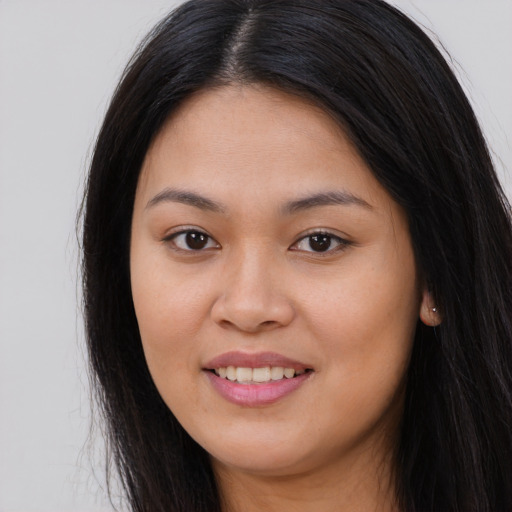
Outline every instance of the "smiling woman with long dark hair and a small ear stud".
<path fill-rule="evenodd" d="M 98 137 L 84 286 L 133 510 L 512 509 L 510 206 L 388 4 L 163 20 Z"/>

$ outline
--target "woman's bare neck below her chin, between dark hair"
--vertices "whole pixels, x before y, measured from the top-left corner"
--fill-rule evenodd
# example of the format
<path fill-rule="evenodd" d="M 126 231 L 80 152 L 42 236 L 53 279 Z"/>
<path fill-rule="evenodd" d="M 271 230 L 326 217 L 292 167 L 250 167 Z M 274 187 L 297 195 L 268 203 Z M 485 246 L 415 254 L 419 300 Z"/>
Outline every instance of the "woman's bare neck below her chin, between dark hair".
<path fill-rule="evenodd" d="M 255 474 L 213 461 L 223 512 L 398 512 L 393 465 L 375 450 L 308 471 Z"/>

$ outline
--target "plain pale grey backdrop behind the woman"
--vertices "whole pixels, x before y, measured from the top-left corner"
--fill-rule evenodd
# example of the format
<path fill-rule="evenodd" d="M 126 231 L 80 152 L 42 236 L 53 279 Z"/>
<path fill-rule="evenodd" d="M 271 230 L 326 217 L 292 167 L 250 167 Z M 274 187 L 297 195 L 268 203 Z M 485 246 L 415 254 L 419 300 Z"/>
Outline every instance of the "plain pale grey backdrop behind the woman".
<path fill-rule="evenodd" d="M 1 512 L 111 509 L 101 438 L 84 449 L 75 216 L 124 64 L 177 3 L 0 0 Z M 512 196 L 512 1 L 392 3 L 450 51 Z"/>

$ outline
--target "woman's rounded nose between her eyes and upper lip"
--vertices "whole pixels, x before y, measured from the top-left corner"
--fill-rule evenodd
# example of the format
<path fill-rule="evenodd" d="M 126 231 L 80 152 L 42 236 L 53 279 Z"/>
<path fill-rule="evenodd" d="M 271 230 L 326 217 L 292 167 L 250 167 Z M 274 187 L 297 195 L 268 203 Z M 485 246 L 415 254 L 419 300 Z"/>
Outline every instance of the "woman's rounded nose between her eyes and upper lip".
<path fill-rule="evenodd" d="M 283 273 L 265 251 L 250 250 L 225 262 L 218 276 L 219 294 L 212 306 L 223 328 L 258 333 L 288 325 L 295 315 Z"/>

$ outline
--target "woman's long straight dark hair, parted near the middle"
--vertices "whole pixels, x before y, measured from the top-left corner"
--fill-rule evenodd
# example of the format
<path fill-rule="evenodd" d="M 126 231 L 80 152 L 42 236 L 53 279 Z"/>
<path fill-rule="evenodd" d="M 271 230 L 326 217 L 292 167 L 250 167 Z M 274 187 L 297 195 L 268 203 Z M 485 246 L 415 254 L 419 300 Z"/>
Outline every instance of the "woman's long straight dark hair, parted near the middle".
<path fill-rule="evenodd" d="M 128 65 L 83 215 L 90 368 L 134 511 L 220 510 L 208 454 L 160 398 L 130 290 L 135 189 L 194 92 L 263 83 L 314 101 L 407 212 L 443 322 L 418 324 L 396 452 L 403 510 L 512 510 L 512 228 L 473 111 L 429 38 L 381 0 L 192 0 Z"/>

